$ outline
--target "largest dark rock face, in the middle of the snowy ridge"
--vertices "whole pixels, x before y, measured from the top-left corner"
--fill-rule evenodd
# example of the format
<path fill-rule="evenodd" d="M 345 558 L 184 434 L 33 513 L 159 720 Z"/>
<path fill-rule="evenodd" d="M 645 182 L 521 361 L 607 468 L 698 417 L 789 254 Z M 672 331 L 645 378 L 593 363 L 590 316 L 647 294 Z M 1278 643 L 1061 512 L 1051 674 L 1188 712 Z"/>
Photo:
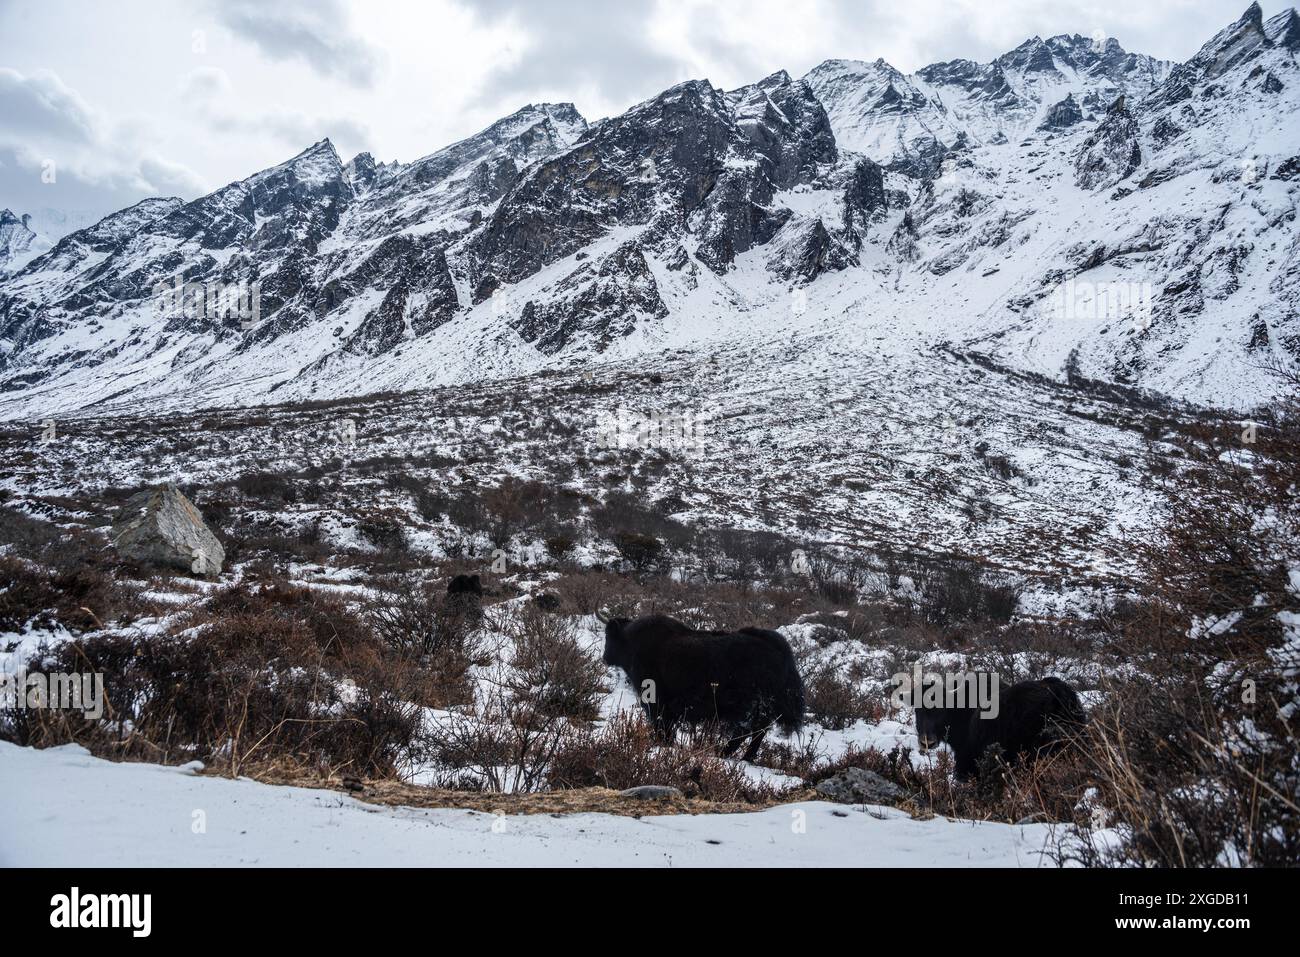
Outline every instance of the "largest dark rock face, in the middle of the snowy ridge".
<path fill-rule="evenodd" d="M 653 224 L 697 233 L 699 260 L 725 272 L 781 226 L 770 212 L 776 191 L 810 182 L 835 159 L 826 112 L 784 73 L 729 95 L 682 83 L 534 169 L 502 200 L 473 256 L 478 269 L 490 264 L 500 281 L 517 282 L 611 225 Z"/>

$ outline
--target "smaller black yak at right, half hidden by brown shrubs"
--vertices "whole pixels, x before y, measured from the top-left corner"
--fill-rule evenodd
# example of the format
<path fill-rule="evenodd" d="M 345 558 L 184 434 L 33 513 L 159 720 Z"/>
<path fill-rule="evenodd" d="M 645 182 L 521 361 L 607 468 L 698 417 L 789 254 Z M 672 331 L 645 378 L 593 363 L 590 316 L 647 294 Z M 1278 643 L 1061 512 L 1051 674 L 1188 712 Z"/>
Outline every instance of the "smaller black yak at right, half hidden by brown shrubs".
<path fill-rule="evenodd" d="M 1060 677 L 1044 677 L 1002 692 L 996 716 L 984 718 L 978 707 L 918 707 L 916 737 L 922 749 L 946 741 L 957 759 L 954 774 L 966 780 L 979 775 L 991 745 L 1015 765 L 1057 749 L 1086 722 L 1074 689 Z"/>

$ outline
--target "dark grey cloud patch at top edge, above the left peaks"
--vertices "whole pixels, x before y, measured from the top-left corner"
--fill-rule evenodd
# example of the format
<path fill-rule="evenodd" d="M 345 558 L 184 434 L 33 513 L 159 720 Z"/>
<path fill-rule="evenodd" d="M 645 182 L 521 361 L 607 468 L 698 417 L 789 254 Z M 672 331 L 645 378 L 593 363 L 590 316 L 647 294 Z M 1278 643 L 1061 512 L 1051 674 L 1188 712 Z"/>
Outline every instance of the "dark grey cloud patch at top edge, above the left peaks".
<path fill-rule="evenodd" d="M 220 0 L 217 20 L 272 60 L 302 60 L 324 77 L 373 86 L 380 51 L 347 27 L 342 0 Z"/>

